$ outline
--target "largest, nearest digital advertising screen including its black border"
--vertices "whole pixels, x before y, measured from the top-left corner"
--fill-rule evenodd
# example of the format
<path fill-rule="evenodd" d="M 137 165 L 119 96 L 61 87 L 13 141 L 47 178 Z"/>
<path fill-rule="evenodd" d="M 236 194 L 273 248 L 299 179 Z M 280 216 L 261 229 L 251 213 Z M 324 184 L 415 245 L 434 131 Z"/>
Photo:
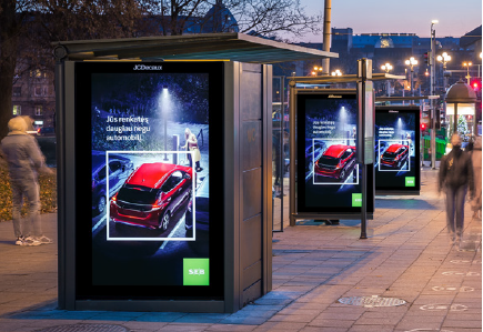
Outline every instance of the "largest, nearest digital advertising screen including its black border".
<path fill-rule="evenodd" d="M 221 62 L 76 63 L 78 299 L 223 298 L 222 95 Z"/>

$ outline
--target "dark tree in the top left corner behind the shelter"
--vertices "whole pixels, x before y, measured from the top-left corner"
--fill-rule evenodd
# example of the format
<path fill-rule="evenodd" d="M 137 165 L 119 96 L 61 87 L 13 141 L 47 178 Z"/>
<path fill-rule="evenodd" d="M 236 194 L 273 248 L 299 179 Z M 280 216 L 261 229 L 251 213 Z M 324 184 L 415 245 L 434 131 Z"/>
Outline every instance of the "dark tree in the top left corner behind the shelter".
<path fill-rule="evenodd" d="M 32 70 L 53 73 L 51 42 L 135 37 L 143 10 L 137 0 L 2 0 L 0 139 L 12 115 L 16 76 Z"/>

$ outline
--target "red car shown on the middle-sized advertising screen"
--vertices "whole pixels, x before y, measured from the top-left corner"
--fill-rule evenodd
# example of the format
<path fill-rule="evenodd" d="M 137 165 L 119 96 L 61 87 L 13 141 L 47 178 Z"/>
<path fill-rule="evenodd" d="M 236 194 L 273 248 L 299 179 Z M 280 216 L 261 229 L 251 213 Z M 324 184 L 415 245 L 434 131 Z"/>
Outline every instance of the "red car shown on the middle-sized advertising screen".
<path fill-rule="evenodd" d="M 355 164 L 355 147 L 334 144 L 315 162 L 314 172 L 318 175 L 345 180 Z"/>

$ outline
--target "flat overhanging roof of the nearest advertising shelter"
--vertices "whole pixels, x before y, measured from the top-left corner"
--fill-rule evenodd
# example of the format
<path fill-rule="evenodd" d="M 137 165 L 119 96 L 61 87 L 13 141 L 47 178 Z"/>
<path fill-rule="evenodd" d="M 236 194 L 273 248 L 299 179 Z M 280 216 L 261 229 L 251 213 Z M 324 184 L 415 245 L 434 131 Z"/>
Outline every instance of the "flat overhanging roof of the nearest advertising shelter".
<path fill-rule="evenodd" d="M 52 44 L 58 47 L 57 50 L 64 48 L 69 60 L 232 60 L 276 63 L 339 58 L 334 52 L 238 32 L 78 40 Z"/>

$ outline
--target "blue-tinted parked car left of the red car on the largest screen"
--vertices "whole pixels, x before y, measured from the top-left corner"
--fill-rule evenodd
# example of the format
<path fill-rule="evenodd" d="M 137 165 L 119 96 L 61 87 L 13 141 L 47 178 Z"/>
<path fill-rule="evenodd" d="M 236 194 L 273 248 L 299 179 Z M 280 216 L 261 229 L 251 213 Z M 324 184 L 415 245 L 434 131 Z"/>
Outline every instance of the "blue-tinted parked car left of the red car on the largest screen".
<path fill-rule="evenodd" d="M 104 152 L 92 153 L 92 210 L 95 214 L 104 212 L 109 191 L 114 192 L 134 170 L 128 158 L 117 154 L 109 155 L 109 165 L 105 164 Z M 109 175 L 108 175 L 109 173 Z"/>

